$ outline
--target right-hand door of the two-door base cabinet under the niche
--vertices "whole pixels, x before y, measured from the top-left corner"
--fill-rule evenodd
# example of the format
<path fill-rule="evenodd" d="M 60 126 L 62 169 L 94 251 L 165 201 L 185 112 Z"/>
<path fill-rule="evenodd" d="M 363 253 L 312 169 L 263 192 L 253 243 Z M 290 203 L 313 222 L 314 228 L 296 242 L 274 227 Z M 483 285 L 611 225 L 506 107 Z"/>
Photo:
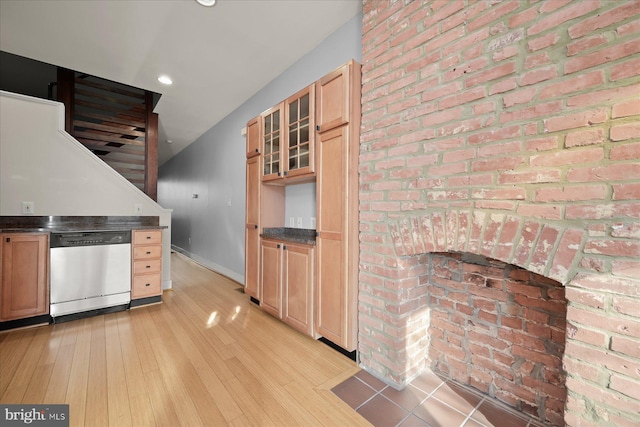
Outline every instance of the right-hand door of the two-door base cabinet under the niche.
<path fill-rule="evenodd" d="M 283 248 L 282 287 L 284 301 L 282 320 L 300 332 L 314 336 L 313 291 L 314 257 L 313 246 L 285 243 Z"/>

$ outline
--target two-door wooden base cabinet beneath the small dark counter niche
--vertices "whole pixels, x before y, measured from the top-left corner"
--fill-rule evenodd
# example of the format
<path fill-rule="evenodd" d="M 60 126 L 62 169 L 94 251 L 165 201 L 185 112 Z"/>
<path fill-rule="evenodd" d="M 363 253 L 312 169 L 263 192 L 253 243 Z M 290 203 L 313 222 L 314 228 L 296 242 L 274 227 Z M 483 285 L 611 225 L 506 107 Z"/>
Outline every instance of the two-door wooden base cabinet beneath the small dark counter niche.
<path fill-rule="evenodd" d="M 313 327 L 315 247 L 262 239 L 261 254 L 261 308 L 316 338 Z"/>

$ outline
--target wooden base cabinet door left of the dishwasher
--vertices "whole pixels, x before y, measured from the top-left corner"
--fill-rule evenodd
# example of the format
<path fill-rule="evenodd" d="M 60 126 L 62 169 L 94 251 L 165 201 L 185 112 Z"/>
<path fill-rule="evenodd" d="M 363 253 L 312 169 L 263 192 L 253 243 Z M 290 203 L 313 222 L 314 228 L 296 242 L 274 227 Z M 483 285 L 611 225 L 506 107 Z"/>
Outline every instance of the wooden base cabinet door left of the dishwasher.
<path fill-rule="evenodd" d="M 49 312 L 47 234 L 2 234 L 0 321 Z"/>

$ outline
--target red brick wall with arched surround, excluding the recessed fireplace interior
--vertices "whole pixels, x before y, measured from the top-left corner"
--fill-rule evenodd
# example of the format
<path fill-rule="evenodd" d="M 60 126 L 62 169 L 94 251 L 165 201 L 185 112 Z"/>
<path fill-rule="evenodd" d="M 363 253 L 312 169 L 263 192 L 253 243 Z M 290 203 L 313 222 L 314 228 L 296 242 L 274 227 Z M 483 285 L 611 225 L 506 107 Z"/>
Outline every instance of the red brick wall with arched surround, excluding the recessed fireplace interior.
<path fill-rule="evenodd" d="M 568 425 L 640 422 L 640 2 L 363 6 L 361 365 L 428 360 L 431 252 L 565 286 Z"/>

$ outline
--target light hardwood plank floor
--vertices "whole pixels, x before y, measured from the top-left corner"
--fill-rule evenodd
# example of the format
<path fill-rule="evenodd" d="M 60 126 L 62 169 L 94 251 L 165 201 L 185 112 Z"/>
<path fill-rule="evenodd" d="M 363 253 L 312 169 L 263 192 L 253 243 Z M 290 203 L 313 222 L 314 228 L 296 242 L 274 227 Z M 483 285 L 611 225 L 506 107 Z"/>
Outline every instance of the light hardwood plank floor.
<path fill-rule="evenodd" d="M 87 426 L 370 425 L 331 388 L 358 368 L 178 254 L 163 303 L 0 334 L 0 403 Z"/>

